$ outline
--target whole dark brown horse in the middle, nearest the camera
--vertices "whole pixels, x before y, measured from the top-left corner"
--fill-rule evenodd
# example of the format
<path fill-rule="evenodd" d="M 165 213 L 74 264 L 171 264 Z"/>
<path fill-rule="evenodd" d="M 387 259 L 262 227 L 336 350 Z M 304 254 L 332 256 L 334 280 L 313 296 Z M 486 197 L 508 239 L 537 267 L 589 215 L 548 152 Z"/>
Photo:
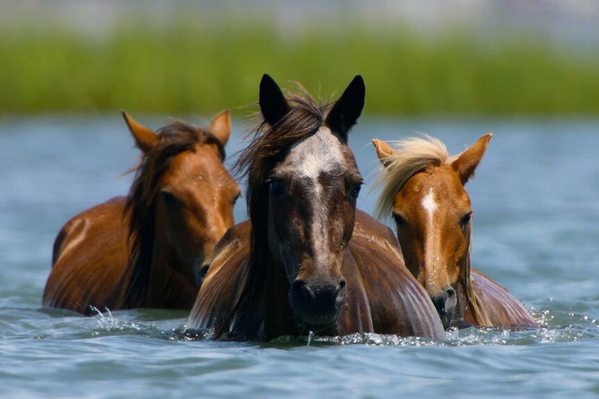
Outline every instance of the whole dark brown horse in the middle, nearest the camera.
<path fill-rule="evenodd" d="M 286 99 L 263 76 L 263 121 L 236 165 L 247 173 L 250 220 L 215 248 L 190 328 L 217 339 L 308 330 L 445 337 L 393 232 L 356 212 L 363 180 L 347 133 L 365 94 L 356 76 L 331 108 L 320 107 L 307 93 Z"/>

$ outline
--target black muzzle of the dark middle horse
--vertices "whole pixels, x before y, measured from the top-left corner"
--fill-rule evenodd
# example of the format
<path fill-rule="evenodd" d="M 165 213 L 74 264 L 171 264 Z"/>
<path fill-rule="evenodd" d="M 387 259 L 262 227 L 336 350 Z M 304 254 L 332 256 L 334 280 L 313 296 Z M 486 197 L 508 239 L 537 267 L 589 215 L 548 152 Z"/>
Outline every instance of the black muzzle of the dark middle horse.
<path fill-rule="evenodd" d="M 328 285 L 295 280 L 289 291 L 293 312 L 300 321 L 309 325 L 334 323 L 347 299 L 346 285 L 345 279 Z"/>

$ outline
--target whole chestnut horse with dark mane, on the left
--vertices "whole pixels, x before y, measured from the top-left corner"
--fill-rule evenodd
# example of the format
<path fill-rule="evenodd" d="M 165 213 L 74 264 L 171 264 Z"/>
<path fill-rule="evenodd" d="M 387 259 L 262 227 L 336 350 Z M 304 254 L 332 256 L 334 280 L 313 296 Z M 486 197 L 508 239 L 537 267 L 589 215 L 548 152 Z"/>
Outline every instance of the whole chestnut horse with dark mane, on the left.
<path fill-rule="evenodd" d="M 123 112 L 142 160 L 129 196 L 68 221 L 54 243 L 43 304 L 191 309 L 218 239 L 233 225 L 240 194 L 222 164 L 229 111 L 208 129 L 181 121 L 158 133 Z"/>

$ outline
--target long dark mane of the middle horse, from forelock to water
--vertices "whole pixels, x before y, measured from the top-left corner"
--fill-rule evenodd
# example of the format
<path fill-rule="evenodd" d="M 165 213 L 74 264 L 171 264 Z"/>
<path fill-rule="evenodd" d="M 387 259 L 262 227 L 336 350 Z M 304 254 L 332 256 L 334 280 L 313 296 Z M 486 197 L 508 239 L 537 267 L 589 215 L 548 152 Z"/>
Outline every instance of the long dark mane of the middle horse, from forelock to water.
<path fill-rule="evenodd" d="M 240 152 L 233 166 L 236 176 L 247 177 L 246 201 L 249 219 L 252 222 L 249 257 L 245 264 L 245 282 L 242 294 L 233 306 L 227 321 L 217 327 L 216 336 L 227 332 L 229 323 L 249 314 L 259 301 L 259 296 L 267 280 L 268 262 L 268 180 L 270 171 L 277 162 L 284 159 L 293 144 L 313 135 L 325 122 L 327 105 L 319 105 L 313 97 L 298 84 L 300 94 L 288 94 L 290 106 L 287 114 L 274 126 L 270 126 L 260 115 L 256 126 L 249 130 L 246 138 L 252 142 Z M 238 317 L 236 317 L 238 316 Z M 237 323 L 243 328 L 243 323 Z M 231 326 L 233 327 L 233 326 Z M 240 334 L 248 334 L 243 330 Z M 249 332 L 251 335 L 251 332 Z"/>

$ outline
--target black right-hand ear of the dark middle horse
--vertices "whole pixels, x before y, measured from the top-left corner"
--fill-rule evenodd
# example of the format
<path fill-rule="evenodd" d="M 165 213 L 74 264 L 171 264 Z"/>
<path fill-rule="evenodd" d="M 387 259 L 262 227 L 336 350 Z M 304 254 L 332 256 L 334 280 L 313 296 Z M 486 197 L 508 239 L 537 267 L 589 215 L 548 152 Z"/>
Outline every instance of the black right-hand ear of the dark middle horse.
<path fill-rule="evenodd" d="M 362 113 L 364 99 L 366 97 L 366 86 L 362 76 L 358 75 L 352 80 L 345 92 L 340 96 L 327 115 L 327 126 L 332 131 L 340 133 L 347 142 L 347 133 Z"/>

